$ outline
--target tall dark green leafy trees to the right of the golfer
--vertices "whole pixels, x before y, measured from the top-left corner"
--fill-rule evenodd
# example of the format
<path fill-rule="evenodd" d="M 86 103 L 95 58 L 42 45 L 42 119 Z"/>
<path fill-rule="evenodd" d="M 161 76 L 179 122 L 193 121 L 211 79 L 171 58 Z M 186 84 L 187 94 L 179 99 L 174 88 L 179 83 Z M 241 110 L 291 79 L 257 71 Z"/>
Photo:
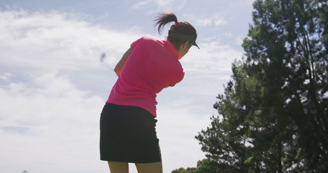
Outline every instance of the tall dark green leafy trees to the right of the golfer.
<path fill-rule="evenodd" d="M 195 136 L 207 160 L 180 172 L 328 172 L 328 5 L 256 0 L 243 61 Z M 216 169 L 215 169 L 216 168 Z"/>

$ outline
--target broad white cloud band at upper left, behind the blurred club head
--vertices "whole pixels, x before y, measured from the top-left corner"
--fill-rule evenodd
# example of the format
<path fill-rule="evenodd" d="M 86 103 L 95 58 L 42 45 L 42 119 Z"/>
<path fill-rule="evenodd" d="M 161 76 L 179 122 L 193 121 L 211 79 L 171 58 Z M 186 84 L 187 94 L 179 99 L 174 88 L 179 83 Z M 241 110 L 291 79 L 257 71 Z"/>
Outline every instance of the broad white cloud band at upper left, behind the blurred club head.
<path fill-rule="evenodd" d="M 93 26 L 78 15 L 0 11 L 0 56 L 5 66 L 84 69 L 101 66 L 106 52 L 112 67 L 142 34 Z M 19 49 L 17 49 L 19 48 Z"/>

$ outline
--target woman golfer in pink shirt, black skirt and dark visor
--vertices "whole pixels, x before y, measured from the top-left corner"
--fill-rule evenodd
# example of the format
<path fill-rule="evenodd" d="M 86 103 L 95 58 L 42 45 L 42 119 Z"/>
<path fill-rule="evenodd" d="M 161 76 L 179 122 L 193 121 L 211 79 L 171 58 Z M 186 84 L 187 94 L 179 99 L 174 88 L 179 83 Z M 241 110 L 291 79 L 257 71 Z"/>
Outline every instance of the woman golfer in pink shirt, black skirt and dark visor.
<path fill-rule="evenodd" d="M 159 13 L 158 32 L 175 22 L 167 40 L 145 35 L 131 44 L 116 65 L 118 79 L 100 114 L 100 160 L 111 173 L 162 173 L 161 151 L 155 131 L 156 93 L 184 77 L 179 60 L 196 44 L 196 29 L 178 22 L 174 13 Z M 197 46 L 198 47 L 198 46 Z"/>

